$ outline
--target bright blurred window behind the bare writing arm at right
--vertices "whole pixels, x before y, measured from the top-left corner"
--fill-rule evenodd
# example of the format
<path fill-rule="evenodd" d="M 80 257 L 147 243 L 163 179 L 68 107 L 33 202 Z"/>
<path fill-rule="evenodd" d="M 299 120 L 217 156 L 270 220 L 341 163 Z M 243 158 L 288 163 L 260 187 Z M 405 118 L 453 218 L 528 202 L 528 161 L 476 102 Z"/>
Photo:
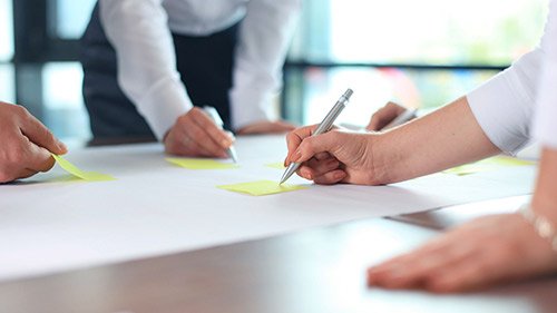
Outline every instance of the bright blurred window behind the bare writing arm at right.
<path fill-rule="evenodd" d="M 348 87 L 354 96 L 340 123 L 363 126 L 389 100 L 444 105 L 534 48 L 547 14 L 547 0 L 304 4 L 283 100 L 299 124 L 321 121 Z"/>

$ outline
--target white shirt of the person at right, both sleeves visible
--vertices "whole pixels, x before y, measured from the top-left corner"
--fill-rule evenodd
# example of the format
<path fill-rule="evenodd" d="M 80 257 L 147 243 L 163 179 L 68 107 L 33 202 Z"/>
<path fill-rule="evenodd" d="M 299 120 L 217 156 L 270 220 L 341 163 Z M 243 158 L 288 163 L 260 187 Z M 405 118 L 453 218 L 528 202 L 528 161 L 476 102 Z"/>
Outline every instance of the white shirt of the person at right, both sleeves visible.
<path fill-rule="evenodd" d="M 530 138 L 557 148 L 557 1 L 538 48 L 467 95 L 489 139 L 516 154 Z M 534 131 L 532 131 L 534 130 Z"/>

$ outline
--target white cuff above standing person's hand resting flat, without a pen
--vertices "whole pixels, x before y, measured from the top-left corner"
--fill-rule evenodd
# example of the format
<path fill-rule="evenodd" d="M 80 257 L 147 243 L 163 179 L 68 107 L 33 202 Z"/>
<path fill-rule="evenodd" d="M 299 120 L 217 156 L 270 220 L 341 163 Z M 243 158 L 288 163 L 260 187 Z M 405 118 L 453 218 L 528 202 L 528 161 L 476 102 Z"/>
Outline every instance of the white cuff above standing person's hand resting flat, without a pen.
<path fill-rule="evenodd" d="M 271 120 L 271 92 L 243 87 L 242 91 L 233 89 L 229 96 L 234 131 L 256 121 Z"/>

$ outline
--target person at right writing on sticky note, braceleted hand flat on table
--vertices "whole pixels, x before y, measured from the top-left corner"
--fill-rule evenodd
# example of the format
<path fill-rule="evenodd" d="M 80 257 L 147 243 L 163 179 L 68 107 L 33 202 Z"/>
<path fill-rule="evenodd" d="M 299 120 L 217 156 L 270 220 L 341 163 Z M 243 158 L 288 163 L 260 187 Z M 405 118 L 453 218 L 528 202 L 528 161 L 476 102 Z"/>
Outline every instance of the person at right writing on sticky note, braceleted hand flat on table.
<path fill-rule="evenodd" d="M 557 272 L 557 0 L 540 46 L 465 97 L 385 133 L 315 126 L 287 135 L 285 164 L 317 184 L 382 185 L 543 146 L 530 204 L 477 218 L 368 271 L 370 286 L 449 293 Z M 532 133 L 532 136 L 530 136 Z"/>

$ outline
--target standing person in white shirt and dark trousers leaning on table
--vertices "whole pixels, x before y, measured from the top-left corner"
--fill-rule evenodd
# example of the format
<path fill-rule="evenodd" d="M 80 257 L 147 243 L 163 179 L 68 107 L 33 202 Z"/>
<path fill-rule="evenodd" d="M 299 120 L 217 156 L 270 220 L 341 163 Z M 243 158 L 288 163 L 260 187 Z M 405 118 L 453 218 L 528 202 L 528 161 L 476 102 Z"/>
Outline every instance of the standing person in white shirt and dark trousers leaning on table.
<path fill-rule="evenodd" d="M 99 0 L 80 41 L 95 139 L 153 137 L 166 151 L 226 157 L 238 135 L 286 133 L 270 120 L 301 0 Z"/>

